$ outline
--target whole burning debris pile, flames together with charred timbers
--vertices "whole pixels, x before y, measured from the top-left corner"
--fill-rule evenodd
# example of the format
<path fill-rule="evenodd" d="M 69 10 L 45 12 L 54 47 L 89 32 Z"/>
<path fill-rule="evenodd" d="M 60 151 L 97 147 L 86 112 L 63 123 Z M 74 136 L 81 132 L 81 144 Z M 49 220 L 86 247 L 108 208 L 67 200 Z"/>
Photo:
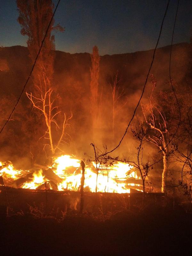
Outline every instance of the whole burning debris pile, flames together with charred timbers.
<path fill-rule="evenodd" d="M 79 191 L 82 176 L 80 162 L 74 156 L 63 155 L 53 159 L 52 166 L 38 170 L 15 170 L 11 162 L 0 162 L 0 175 L 4 185 L 9 187 Z M 118 161 L 113 165 L 100 164 L 97 190 L 130 193 L 130 188 L 133 188 L 142 191 L 142 180 L 132 168 Z M 95 191 L 96 176 L 95 163 L 88 163 L 85 166 L 84 191 Z"/>

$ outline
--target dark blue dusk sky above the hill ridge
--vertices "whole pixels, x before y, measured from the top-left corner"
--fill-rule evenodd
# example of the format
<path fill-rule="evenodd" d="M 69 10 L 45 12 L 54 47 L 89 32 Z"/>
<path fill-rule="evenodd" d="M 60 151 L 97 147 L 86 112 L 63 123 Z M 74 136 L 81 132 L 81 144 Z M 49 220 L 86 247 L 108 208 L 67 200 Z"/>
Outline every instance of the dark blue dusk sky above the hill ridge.
<path fill-rule="evenodd" d="M 57 0 L 53 1 L 56 5 Z M 61 0 L 55 23 L 65 32 L 55 33 L 56 50 L 101 55 L 153 49 L 156 45 L 167 0 Z M 160 46 L 171 43 L 177 0 L 171 0 Z M 0 45 L 24 45 L 15 0 L 1 0 Z M 180 0 L 174 43 L 189 42 L 192 32 L 192 1 Z"/>

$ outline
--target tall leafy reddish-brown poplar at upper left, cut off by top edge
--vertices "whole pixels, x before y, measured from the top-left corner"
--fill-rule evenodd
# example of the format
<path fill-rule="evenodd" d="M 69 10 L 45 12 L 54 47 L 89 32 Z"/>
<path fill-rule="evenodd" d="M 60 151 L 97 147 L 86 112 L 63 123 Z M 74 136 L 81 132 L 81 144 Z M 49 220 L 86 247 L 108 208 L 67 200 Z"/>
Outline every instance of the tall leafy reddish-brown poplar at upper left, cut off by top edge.
<path fill-rule="evenodd" d="M 21 25 L 21 35 L 28 36 L 27 46 L 32 63 L 41 47 L 45 33 L 53 15 L 52 0 L 17 0 L 19 11 L 18 22 Z M 47 31 L 43 47 L 36 62 L 34 82 L 42 71 L 51 79 L 53 74 L 55 38 L 53 30 L 64 31 L 59 24 L 54 26 L 54 20 Z"/>

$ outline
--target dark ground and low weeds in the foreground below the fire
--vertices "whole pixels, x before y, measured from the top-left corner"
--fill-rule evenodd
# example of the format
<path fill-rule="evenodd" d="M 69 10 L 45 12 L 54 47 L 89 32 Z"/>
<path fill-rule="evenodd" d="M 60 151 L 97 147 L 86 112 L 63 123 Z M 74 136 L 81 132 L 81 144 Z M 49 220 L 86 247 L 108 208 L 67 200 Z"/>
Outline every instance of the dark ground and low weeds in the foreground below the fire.
<path fill-rule="evenodd" d="M 160 193 L 7 189 L 1 202 L 1 255 L 191 255 L 192 214 Z M 11 196 L 12 195 L 12 196 Z M 12 197 L 12 198 L 11 198 Z M 128 198 L 128 200 L 127 200 Z M 35 200 L 35 202 L 33 202 Z M 19 210 L 20 209 L 20 210 Z M 8 215 L 7 215 L 8 214 Z"/>

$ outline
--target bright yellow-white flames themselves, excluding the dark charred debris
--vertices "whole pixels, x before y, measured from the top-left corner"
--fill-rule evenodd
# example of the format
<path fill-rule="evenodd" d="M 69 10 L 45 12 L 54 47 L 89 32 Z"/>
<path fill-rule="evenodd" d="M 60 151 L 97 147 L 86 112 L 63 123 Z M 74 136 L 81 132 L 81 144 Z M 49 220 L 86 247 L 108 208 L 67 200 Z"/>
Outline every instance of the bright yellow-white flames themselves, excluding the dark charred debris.
<path fill-rule="evenodd" d="M 57 184 L 58 190 L 74 190 L 77 191 L 81 185 L 81 160 L 74 156 L 63 155 L 54 159 L 50 168 L 62 180 Z M 0 166 L 3 163 L 0 162 Z M 99 192 L 116 192 L 130 193 L 130 187 L 137 187 L 137 190 L 142 191 L 142 186 L 137 183 L 129 183 L 129 178 L 134 178 L 135 181 L 140 180 L 135 171 L 132 171 L 132 166 L 126 163 L 117 162 L 111 166 L 100 165 L 97 181 L 97 191 Z M 20 177 L 25 177 L 29 171 L 15 170 L 12 164 L 0 170 L 0 174 L 4 179 L 17 180 Z M 21 188 L 36 189 L 45 182 L 49 182 L 43 175 L 43 171 L 33 172 L 33 178 L 30 182 L 25 182 Z M 139 182 L 140 183 L 140 182 Z M 94 162 L 85 166 L 85 181 L 84 188 L 87 187 L 91 192 L 95 191 L 96 187 L 96 165 Z M 52 186 L 50 184 L 50 188 Z"/>

